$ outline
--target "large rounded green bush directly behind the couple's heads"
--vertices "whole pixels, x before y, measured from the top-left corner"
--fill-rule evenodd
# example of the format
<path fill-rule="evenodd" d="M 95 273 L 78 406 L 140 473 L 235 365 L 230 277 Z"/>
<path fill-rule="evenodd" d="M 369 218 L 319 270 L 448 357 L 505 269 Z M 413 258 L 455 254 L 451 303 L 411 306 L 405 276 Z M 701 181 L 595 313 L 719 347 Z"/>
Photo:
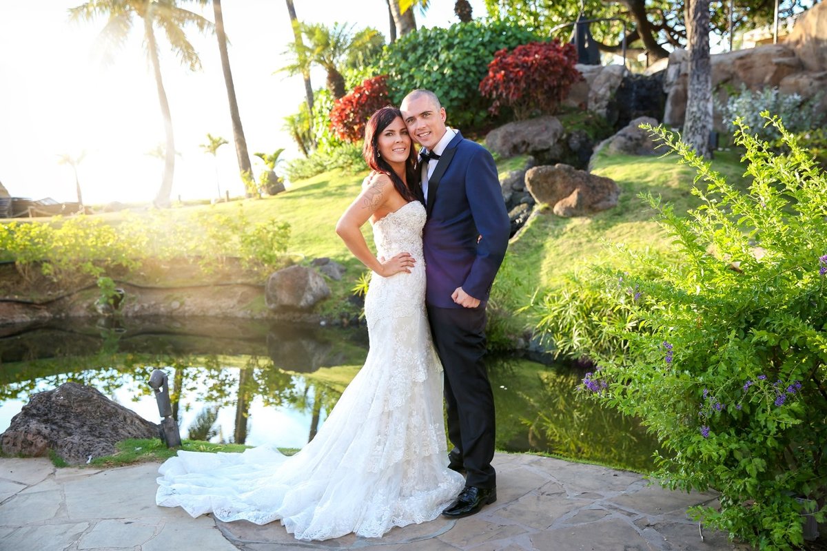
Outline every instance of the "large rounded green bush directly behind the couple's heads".
<path fill-rule="evenodd" d="M 504 21 L 418 29 L 385 48 L 379 71 L 388 75 L 394 105 L 411 90 L 427 88 L 445 107 L 448 124 L 472 129 L 490 123 L 478 86 L 495 52 L 541 38 Z"/>

